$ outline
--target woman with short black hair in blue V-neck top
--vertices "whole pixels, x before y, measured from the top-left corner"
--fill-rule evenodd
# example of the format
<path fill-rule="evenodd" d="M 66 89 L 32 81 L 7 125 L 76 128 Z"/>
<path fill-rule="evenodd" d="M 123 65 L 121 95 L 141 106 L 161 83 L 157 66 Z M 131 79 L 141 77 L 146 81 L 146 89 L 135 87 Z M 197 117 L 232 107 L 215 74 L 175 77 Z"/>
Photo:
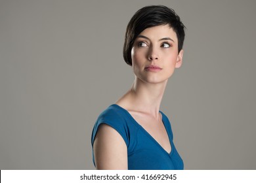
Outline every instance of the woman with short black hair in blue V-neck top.
<path fill-rule="evenodd" d="M 167 80 L 181 67 L 183 41 L 184 25 L 170 8 L 144 7 L 131 18 L 123 58 L 135 81 L 96 121 L 96 169 L 183 169 L 171 124 L 160 111 Z"/>

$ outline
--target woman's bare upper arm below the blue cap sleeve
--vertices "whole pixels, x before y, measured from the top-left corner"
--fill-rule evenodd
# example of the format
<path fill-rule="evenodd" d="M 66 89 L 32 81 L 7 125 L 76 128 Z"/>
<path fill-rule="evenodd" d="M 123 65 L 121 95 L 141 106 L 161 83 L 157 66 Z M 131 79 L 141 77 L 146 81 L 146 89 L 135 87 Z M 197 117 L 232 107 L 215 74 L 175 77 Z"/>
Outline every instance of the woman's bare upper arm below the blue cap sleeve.
<path fill-rule="evenodd" d="M 121 135 L 110 125 L 101 124 L 93 144 L 96 169 L 128 169 L 127 146 Z"/>

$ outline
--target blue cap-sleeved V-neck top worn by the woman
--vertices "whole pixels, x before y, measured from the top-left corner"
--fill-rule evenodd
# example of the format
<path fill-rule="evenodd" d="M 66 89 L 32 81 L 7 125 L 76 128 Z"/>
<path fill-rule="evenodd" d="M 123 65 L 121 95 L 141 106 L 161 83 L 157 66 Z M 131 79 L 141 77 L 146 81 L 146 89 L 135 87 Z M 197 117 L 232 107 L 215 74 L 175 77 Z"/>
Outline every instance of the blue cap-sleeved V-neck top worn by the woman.
<path fill-rule="evenodd" d="M 161 112 L 161 111 L 160 111 Z M 174 144 L 171 124 L 161 112 L 162 121 L 171 144 L 171 153 L 165 151 L 160 144 L 119 105 L 113 104 L 106 108 L 93 127 L 91 144 L 95 140 L 96 131 L 100 124 L 108 124 L 123 137 L 127 146 L 128 169 L 131 170 L 171 170 L 184 169 L 183 161 Z M 93 156 L 93 163 L 95 158 Z"/>

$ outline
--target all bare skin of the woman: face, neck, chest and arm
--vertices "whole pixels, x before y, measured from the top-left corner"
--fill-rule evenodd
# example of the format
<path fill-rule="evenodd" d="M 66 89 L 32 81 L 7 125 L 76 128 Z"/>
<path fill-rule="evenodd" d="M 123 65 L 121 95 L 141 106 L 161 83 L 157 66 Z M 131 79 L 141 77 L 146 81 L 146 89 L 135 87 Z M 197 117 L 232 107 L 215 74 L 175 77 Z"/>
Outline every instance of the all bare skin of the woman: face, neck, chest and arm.
<path fill-rule="evenodd" d="M 144 29 L 131 50 L 135 81 L 116 104 L 160 144 L 171 152 L 171 144 L 161 120 L 160 104 L 168 79 L 181 67 L 183 50 L 178 52 L 175 31 L 169 25 Z M 160 69 L 147 69 L 149 66 Z M 127 169 L 127 146 L 109 125 L 100 125 L 93 145 L 96 169 Z"/>

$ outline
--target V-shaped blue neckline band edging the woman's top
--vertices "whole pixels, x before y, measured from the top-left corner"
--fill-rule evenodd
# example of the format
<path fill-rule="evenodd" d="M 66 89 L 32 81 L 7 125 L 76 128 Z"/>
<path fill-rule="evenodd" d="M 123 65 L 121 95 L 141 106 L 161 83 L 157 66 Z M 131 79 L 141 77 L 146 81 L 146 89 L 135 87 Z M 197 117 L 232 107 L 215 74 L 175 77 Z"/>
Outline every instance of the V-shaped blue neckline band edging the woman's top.
<path fill-rule="evenodd" d="M 136 120 L 135 118 L 133 118 L 133 116 L 130 114 L 130 112 L 128 112 L 128 110 L 126 110 L 125 108 L 117 105 L 117 104 L 113 104 L 114 106 L 118 107 L 118 108 L 121 108 L 121 110 L 123 110 L 127 116 L 129 116 L 129 118 L 131 118 L 131 120 L 140 127 L 140 129 L 142 129 L 142 131 L 144 131 L 144 133 L 153 141 L 157 144 L 157 146 L 160 147 L 161 150 L 163 150 L 163 152 L 165 152 L 166 154 L 168 154 L 169 156 L 171 156 L 172 152 L 173 152 L 173 145 L 171 143 L 171 138 L 169 136 L 169 133 L 167 131 L 167 128 L 166 128 L 166 125 L 165 125 L 165 121 L 163 120 L 163 112 L 159 111 L 161 113 L 161 122 L 163 123 L 163 126 L 165 127 L 165 131 L 167 133 L 167 136 L 168 136 L 168 140 L 169 140 L 169 144 L 171 146 L 171 152 L 167 152 L 167 150 L 165 150 L 158 141 L 156 141 L 156 139 L 154 139 L 154 137 L 152 137 L 152 135 L 150 135 L 150 133 L 148 133 L 148 131 L 146 131 L 146 129 L 144 129 L 144 127 L 142 127 L 142 125 L 140 125 Z"/>

